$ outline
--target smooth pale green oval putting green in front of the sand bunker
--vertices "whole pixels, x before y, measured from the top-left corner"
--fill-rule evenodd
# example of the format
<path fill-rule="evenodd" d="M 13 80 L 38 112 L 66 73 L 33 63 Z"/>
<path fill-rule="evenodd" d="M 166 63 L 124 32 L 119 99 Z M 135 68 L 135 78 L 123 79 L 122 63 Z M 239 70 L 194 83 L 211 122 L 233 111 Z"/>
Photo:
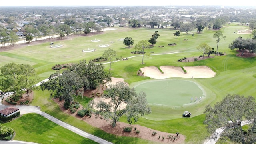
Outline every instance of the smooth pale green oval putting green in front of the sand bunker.
<path fill-rule="evenodd" d="M 148 104 L 160 106 L 195 104 L 195 97 L 205 96 L 201 86 L 188 80 L 151 80 L 134 88 L 136 92 L 146 92 Z"/>

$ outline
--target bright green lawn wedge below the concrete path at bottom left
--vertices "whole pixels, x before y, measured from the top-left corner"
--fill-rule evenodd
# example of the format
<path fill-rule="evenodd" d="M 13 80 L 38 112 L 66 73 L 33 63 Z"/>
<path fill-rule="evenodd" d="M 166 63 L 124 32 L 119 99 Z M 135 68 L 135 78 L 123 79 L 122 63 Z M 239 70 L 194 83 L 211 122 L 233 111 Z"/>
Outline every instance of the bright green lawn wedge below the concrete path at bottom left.
<path fill-rule="evenodd" d="M 3 125 L 14 129 L 16 133 L 14 140 L 38 144 L 98 144 L 38 114 L 24 114 L 22 117 Z"/>

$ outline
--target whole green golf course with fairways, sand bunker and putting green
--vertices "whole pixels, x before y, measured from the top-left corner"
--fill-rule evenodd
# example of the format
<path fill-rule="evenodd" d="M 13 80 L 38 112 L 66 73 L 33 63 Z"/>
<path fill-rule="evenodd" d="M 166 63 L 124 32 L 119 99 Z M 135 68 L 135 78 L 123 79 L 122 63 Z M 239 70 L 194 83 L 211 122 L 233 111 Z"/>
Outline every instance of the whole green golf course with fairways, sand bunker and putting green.
<path fill-rule="evenodd" d="M 117 58 L 127 58 L 127 60 L 111 63 L 112 77 L 122 78 L 130 88 L 134 88 L 138 93 L 144 91 L 152 111 L 139 118 L 135 124 L 147 127 L 148 131 L 151 129 L 172 134 L 179 132 L 185 137 L 185 144 L 202 144 L 209 136 L 206 125 L 203 124 L 204 109 L 208 104 L 213 106 L 227 94 L 256 98 L 255 55 L 241 57 L 237 50 L 228 48 L 229 44 L 239 36 L 250 38 L 250 33 L 238 32 L 238 30 L 249 31 L 249 29 L 248 26 L 231 23 L 226 24 L 220 30 L 204 29 L 200 33 L 194 30 L 188 34 L 180 32 L 180 36 L 175 38 L 173 34 L 177 31 L 175 29 L 114 27 L 104 32 L 87 34 L 87 36 L 85 34 L 69 38 L 65 36 L 62 39 L 44 40 L 42 43 L 33 41 L 20 48 L 14 46 L 13 49 L 0 52 L 0 66 L 10 62 L 30 64 L 35 68 L 40 78 L 38 82 L 40 82 L 56 72 L 52 70 L 52 66 L 56 64 L 72 64 L 80 60 L 89 62 L 101 57 L 108 48 L 112 48 L 116 50 Z M 135 45 L 139 41 L 149 40 L 155 31 L 158 31 L 160 36 L 156 44 L 144 49 L 146 55 L 144 55 L 142 64 L 142 54 L 131 52 L 136 51 Z M 226 36 L 218 44 L 218 52 L 223 52 L 224 55 L 210 54 L 208 57 L 204 54 L 204 58 L 200 59 L 199 56 L 202 53 L 197 47 L 199 44 L 206 43 L 216 50 L 217 42 L 213 34 L 218 31 Z M 130 47 L 124 45 L 122 39 L 126 37 L 131 37 L 134 45 Z M 54 44 L 50 45 L 51 42 Z M 176 45 L 168 45 L 173 43 Z M 190 58 L 190 60 L 179 62 L 178 59 L 182 58 L 185 60 Z M 198 60 L 194 61 L 195 58 Z M 96 63 L 104 63 L 105 70 L 109 70 L 108 61 Z M 142 75 L 138 74 L 140 71 Z M 90 100 L 93 98 L 86 96 L 75 98 L 75 101 L 84 107 Z M 41 111 L 115 144 L 157 143 L 139 138 L 139 136 L 109 134 L 70 116 L 50 98 L 50 92 L 47 90 L 42 91 L 40 88 L 35 90 L 33 100 L 29 105 L 40 106 Z M 182 117 L 184 111 L 192 114 L 190 118 Z M 122 116 L 119 121 L 126 122 L 126 117 Z M 68 132 L 37 114 L 24 114 L 16 120 L 4 123 L 3 126 L 9 126 L 15 130 L 14 140 L 40 144 L 46 144 L 52 140 L 54 140 L 52 143 L 56 144 L 96 143 L 73 132 Z M 156 135 L 158 137 L 158 134 Z M 159 140 L 158 143 L 165 142 Z"/>

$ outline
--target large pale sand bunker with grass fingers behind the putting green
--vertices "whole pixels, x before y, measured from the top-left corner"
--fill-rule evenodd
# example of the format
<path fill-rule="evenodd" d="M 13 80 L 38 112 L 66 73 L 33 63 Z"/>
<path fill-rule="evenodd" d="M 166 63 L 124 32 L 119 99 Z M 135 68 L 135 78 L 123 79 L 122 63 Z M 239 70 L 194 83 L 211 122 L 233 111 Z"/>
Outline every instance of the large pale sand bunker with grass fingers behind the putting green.
<path fill-rule="evenodd" d="M 185 73 L 181 67 L 160 66 L 160 68 L 164 72 L 163 74 L 155 66 L 141 68 L 141 70 L 144 72 L 144 76 L 154 79 L 165 79 L 172 77 L 212 78 L 216 74 L 208 66 L 184 66 L 183 68 L 187 71 L 187 73 Z"/>

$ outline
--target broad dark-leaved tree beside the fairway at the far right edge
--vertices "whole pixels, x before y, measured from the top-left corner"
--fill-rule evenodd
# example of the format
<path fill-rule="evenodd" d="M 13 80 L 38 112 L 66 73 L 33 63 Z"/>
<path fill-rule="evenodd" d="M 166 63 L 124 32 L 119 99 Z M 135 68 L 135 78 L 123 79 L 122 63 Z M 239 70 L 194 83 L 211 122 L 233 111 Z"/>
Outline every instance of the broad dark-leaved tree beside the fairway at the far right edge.
<path fill-rule="evenodd" d="M 228 48 L 231 50 L 233 49 L 239 49 L 242 51 L 242 56 L 244 55 L 244 52 L 246 50 L 249 50 L 249 52 L 255 53 L 256 52 L 256 40 L 252 38 L 243 39 L 242 37 L 236 38 L 231 44 L 229 44 Z"/>

